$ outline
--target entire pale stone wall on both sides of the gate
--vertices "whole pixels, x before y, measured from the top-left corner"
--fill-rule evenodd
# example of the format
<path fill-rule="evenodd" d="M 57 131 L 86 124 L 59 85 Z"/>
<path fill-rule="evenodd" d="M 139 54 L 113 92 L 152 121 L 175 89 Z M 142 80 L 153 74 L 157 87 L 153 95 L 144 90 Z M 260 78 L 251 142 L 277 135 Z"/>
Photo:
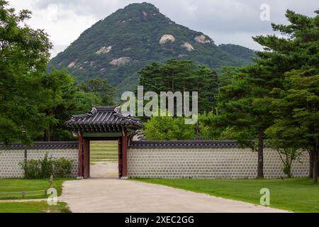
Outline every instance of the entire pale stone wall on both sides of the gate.
<path fill-rule="evenodd" d="M 24 160 L 25 146 L 0 144 L 0 178 L 23 177 L 18 165 Z M 35 143 L 27 148 L 28 159 L 52 157 L 72 160 L 72 175 L 78 173 L 77 142 Z M 264 176 L 285 177 L 276 151 L 264 149 Z M 293 163 L 293 177 L 307 177 L 308 153 Z M 238 148 L 233 141 L 131 142 L 128 148 L 128 177 L 140 178 L 224 178 L 257 177 L 257 153 Z"/>

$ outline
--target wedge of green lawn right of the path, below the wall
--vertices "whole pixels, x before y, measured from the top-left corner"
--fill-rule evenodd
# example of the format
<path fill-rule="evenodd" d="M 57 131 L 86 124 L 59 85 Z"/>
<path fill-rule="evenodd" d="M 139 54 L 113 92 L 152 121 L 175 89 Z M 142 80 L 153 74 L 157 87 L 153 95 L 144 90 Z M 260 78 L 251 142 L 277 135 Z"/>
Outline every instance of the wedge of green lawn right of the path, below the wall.
<path fill-rule="evenodd" d="M 225 199 L 259 204 L 260 189 L 270 190 L 270 206 L 294 212 L 319 212 L 319 184 L 311 179 L 133 179 Z"/>

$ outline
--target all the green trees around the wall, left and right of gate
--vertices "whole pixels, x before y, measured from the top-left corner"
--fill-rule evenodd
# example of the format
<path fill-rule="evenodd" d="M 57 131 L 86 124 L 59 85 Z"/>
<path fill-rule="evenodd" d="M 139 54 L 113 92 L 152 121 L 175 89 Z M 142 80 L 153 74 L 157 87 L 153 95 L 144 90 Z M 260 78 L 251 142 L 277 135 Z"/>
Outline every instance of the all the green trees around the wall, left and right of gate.
<path fill-rule="evenodd" d="M 319 166 L 319 11 L 315 16 L 286 12 L 288 25 L 260 35 L 264 46 L 254 65 L 225 67 L 223 72 L 191 60 L 169 59 L 140 70 L 145 91 L 198 91 L 199 121 L 145 119 L 150 140 L 233 139 L 258 153 L 258 177 L 264 177 L 267 141 L 290 160 L 297 150 L 310 155 L 310 177 Z M 113 105 L 115 89 L 106 79 L 78 83 L 65 70 L 47 71 L 52 44 L 42 30 L 25 24 L 30 11 L 16 13 L 0 0 L 0 141 L 72 140 L 65 127 L 72 114 L 92 105 Z M 289 175 L 289 163 L 286 163 Z"/>

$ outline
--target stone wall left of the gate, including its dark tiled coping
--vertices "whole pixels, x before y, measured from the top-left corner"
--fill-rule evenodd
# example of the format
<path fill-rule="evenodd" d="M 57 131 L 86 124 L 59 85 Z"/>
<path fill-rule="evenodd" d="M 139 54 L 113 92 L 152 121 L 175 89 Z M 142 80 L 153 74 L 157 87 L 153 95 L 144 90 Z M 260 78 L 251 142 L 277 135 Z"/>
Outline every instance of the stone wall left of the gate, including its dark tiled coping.
<path fill-rule="evenodd" d="M 5 147 L 0 144 L 0 178 L 21 178 L 23 170 L 19 163 L 24 160 L 25 146 L 13 144 Z M 79 149 L 77 142 L 50 142 L 35 143 L 27 148 L 28 159 L 38 160 L 45 154 L 52 157 L 65 157 L 72 161 L 72 176 L 78 173 Z"/>

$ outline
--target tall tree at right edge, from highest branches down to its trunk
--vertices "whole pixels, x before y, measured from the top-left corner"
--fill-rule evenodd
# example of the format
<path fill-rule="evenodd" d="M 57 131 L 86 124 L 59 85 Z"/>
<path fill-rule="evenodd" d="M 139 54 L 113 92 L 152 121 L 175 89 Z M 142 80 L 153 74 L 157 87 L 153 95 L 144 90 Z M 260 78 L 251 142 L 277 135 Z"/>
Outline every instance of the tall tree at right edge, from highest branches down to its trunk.
<path fill-rule="evenodd" d="M 271 114 L 274 125 L 267 134 L 284 140 L 284 148 L 301 148 L 310 153 L 310 176 L 318 182 L 318 65 L 319 11 L 314 17 L 287 11 L 287 26 L 273 25 L 288 38 L 275 36 L 255 38 L 272 52 L 259 52 L 259 64 L 267 65 L 281 75 L 281 87 L 272 91 Z"/>

